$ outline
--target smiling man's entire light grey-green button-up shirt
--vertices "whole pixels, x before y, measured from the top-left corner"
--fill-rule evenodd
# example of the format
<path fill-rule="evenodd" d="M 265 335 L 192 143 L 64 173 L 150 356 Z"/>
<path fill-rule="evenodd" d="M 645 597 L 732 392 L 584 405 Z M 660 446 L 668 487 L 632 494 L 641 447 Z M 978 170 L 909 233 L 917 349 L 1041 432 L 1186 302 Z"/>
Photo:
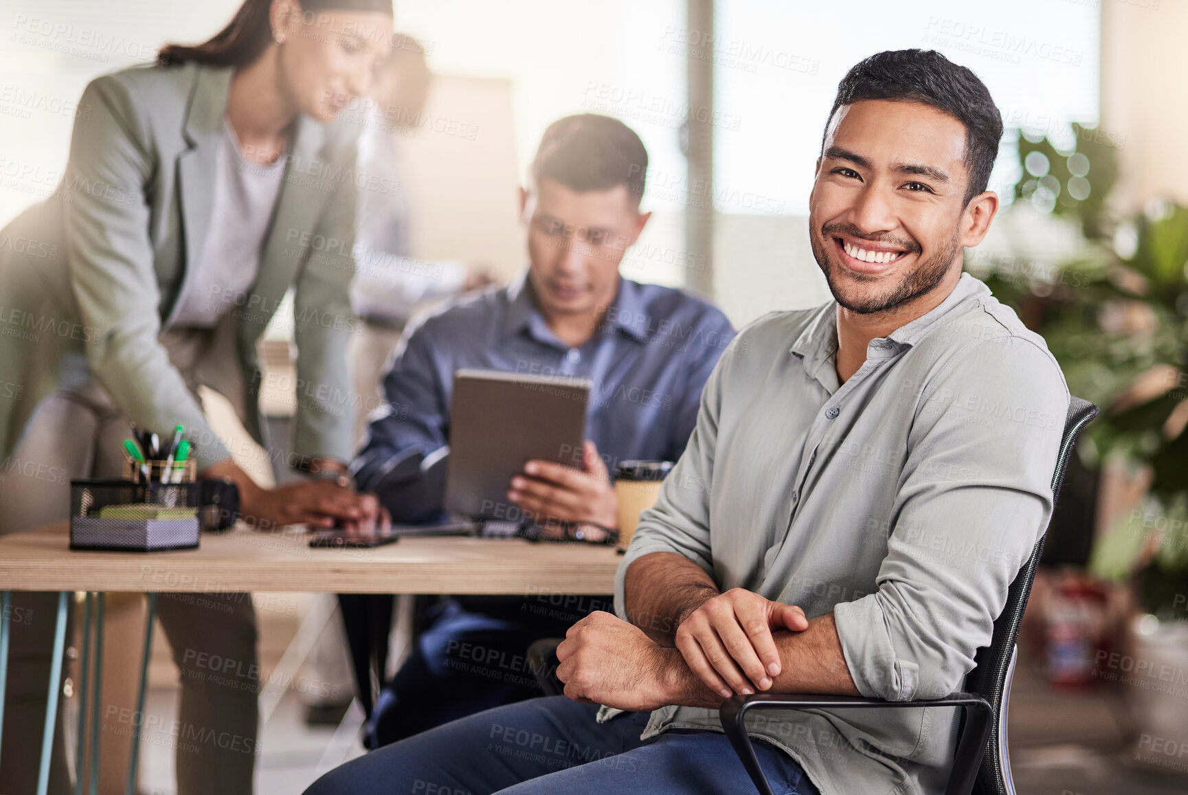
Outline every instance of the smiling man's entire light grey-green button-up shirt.
<path fill-rule="evenodd" d="M 689 444 L 619 567 L 684 555 L 740 587 L 833 613 L 865 696 L 960 689 L 1048 523 L 1068 389 L 1043 339 L 965 275 L 935 309 L 874 339 L 839 384 L 836 304 L 744 329 L 702 395 Z M 604 709 L 600 720 L 615 711 Z M 954 708 L 764 712 L 827 795 L 940 793 Z M 720 731 L 670 706 L 645 731 Z"/>

